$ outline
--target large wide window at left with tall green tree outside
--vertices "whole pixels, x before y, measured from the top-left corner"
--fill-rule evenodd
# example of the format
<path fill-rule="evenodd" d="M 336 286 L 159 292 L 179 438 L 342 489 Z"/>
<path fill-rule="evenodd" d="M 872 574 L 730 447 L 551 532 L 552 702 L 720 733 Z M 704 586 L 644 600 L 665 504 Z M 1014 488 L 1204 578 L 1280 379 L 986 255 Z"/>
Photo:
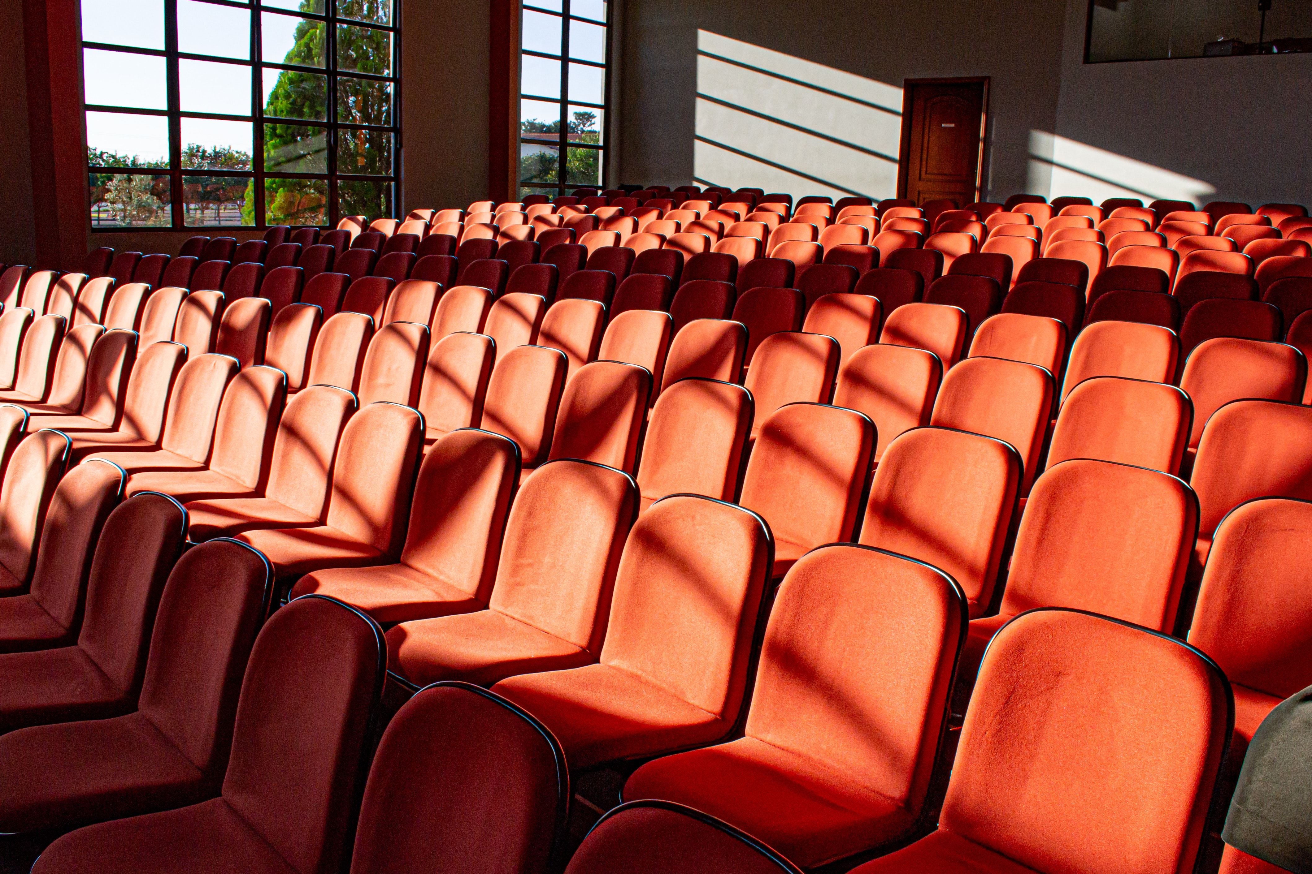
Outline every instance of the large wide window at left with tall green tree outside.
<path fill-rule="evenodd" d="M 394 0 L 81 0 L 93 229 L 391 216 Z"/>

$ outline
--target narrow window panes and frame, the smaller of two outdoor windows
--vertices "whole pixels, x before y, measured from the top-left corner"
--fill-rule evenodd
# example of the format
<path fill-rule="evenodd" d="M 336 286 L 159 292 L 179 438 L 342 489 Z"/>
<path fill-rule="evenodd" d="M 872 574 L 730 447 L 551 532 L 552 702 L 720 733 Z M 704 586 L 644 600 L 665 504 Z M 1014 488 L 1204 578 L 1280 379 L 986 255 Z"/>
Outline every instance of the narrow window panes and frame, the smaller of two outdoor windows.
<path fill-rule="evenodd" d="M 520 54 L 520 194 L 600 187 L 610 28 L 606 0 L 525 0 Z M 560 157 L 564 156 L 564 161 Z"/>

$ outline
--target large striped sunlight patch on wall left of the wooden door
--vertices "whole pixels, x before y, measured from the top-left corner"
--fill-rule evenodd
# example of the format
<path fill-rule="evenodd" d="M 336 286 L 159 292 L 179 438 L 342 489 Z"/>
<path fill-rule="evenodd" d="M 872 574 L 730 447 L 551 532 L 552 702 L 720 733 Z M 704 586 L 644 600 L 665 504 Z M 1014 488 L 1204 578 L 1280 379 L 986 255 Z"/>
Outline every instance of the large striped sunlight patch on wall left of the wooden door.
<path fill-rule="evenodd" d="M 895 197 L 901 88 L 697 33 L 698 183 Z"/>

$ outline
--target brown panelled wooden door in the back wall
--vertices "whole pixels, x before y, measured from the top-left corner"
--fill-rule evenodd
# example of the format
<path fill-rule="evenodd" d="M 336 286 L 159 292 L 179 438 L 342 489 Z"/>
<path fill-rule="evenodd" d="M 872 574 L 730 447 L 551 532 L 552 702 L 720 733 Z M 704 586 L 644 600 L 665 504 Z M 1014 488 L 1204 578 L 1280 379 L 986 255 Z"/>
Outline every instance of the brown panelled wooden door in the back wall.
<path fill-rule="evenodd" d="M 987 104 L 988 79 L 907 81 L 899 197 L 958 207 L 979 199 Z"/>

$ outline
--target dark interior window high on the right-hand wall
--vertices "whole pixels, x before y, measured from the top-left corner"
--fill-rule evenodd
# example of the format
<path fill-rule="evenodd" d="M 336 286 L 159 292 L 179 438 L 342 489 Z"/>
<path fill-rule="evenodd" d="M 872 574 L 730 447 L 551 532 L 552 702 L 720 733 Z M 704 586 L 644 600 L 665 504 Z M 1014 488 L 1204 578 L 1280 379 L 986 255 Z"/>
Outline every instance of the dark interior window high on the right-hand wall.
<path fill-rule="evenodd" d="M 1089 0 L 1085 63 L 1312 51 L 1307 0 Z"/>

